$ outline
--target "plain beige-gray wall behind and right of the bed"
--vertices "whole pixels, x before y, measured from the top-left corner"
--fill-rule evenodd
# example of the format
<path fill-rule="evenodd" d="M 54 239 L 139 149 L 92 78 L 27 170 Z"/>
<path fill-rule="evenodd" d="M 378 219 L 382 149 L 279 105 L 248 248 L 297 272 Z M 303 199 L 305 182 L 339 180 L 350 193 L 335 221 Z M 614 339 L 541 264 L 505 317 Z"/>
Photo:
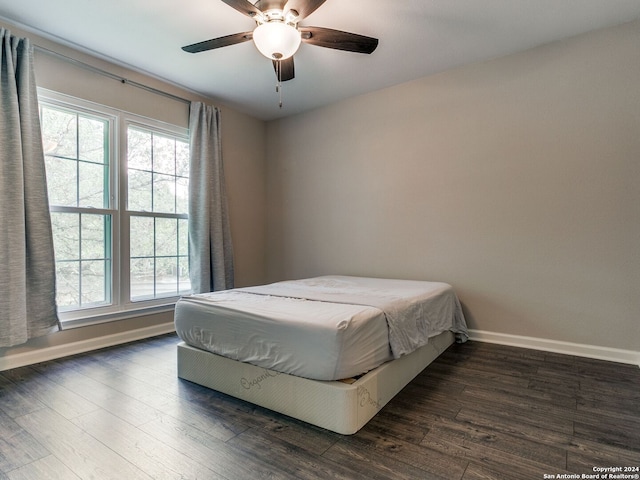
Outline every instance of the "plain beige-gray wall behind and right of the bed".
<path fill-rule="evenodd" d="M 267 133 L 270 280 L 442 280 L 473 329 L 640 351 L 640 22 Z"/>

